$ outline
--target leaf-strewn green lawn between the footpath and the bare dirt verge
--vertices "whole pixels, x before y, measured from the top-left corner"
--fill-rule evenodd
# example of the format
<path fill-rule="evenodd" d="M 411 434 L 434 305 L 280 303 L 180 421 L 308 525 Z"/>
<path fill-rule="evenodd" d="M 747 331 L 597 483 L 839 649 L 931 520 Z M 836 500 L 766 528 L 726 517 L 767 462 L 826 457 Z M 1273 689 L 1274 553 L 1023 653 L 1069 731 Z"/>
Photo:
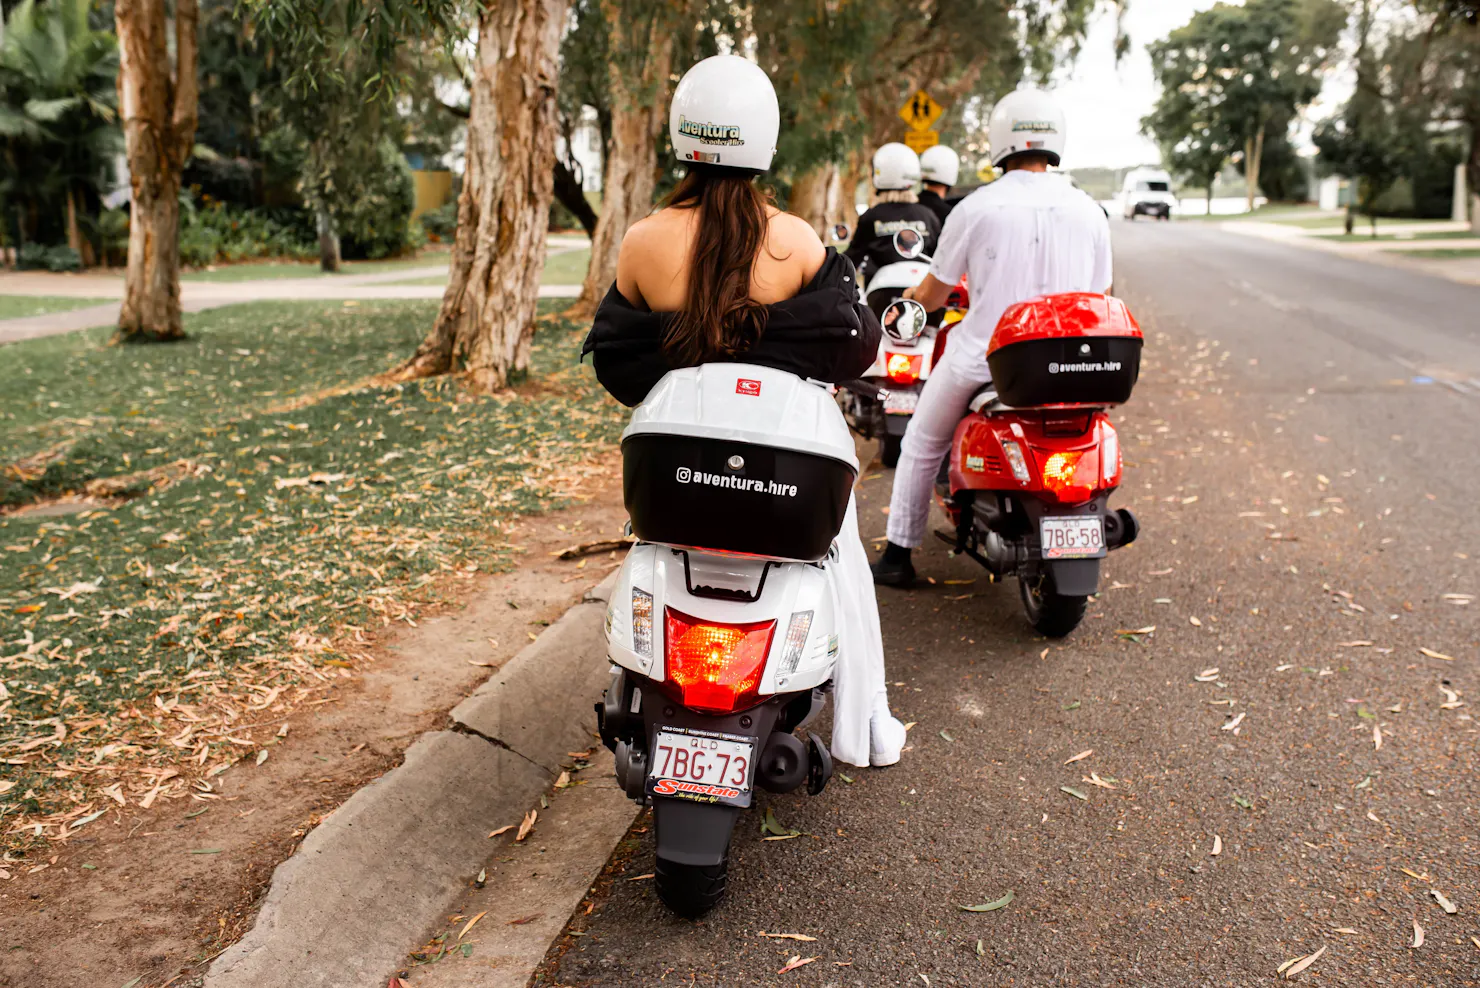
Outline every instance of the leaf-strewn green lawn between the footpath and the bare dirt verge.
<path fill-rule="evenodd" d="M 626 416 L 577 362 L 585 327 L 540 324 L 534 388 L 360 383 L 435 312 L 263 302 L 186 315 L 182 343 L 6 348 L 0 506 L 93 481 L 132 500 L 0 515 L 3 846 L 265 757 L 366 632 L 508 565 L 503 521 L 613 448 Z"/>

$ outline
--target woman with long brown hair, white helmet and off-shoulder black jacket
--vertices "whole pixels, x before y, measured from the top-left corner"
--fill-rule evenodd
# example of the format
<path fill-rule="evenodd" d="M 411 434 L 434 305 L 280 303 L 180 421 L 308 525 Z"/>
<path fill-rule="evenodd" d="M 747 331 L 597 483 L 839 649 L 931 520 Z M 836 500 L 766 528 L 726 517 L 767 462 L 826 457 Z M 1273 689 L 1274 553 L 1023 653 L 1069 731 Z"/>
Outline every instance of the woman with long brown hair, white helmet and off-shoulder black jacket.
<path fill-rule="evenodd" d="M 854 266 L 755 186 L 778 129 L 776 90 L 755 62 L 716 55 L 679 80 L 669 136 L 687 175 L 623 238 L 616 284 L 583 351 L 623 404 L 639 404 L 679 367 L 740 361 L 836 383 L 873 362 L 881 330 L 858 302 Z M 878 600 L 851 498 L 838 552 L 827 569 L 841 614 L 832 753 L 892 765 L 904 725 L 889 714 Z"/>

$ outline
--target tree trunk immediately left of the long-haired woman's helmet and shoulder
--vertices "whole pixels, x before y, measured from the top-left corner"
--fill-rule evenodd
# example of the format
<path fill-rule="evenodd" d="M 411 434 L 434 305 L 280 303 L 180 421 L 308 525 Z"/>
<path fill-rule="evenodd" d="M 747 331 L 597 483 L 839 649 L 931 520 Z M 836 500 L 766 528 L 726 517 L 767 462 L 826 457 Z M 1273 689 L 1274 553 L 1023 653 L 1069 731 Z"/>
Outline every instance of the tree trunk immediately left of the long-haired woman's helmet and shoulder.
<path fill-rule="evenodd" d="M 653 212 L 657 179 L 657 139 L 667 126 L 669 74 L 673 67 L 673 25 L 660 13 L 644 28 L 630 24 L 630 10 L 602 0 L 613 52 L 647 52 L 633 77 L 620 59 L 607 65 L 611 86 L 611 139 L 601 179 L 601 214 L 591 235 L 591 265 L 580 297 L 565 314 L 589 318 L 617 277 L 617 253 L 628 228 Z"/>

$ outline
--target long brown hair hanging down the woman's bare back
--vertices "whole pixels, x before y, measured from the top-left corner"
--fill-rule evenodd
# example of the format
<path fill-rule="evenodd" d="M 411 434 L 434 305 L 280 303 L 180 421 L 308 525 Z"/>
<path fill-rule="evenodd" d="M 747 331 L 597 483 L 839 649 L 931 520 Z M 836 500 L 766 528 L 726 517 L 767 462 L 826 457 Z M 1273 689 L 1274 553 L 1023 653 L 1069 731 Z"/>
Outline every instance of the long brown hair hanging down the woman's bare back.
<path fill-rule="evenodd" d="M 771 197 L 753 176 L 693 164 L 665 207 L 696 209 L 688 294 L 663 340 L 675 367 L 743 353 L 765 331 L 765 305 L 750 297 L 750 271 L 765 247 Z"/>

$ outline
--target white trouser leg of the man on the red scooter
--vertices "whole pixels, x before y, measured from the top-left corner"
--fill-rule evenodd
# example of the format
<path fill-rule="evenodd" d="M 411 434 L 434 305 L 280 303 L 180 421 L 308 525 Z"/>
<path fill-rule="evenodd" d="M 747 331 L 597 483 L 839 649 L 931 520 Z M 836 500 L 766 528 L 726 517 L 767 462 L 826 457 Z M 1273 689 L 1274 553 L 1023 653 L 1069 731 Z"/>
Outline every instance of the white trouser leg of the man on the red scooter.
<path fill-rule="evenodd" d="M 961 367 L 952 359 L 949 348 L 925 380 L 915 416 L 904 430 L 900 463 L 894 467 L 888 537 L 895 546 L 915 549 L 925 540 L 941 460 L 950 450 L 971 396 L 990 380 L 992 371 L 984 364 Z"/>

